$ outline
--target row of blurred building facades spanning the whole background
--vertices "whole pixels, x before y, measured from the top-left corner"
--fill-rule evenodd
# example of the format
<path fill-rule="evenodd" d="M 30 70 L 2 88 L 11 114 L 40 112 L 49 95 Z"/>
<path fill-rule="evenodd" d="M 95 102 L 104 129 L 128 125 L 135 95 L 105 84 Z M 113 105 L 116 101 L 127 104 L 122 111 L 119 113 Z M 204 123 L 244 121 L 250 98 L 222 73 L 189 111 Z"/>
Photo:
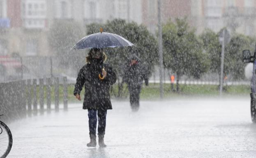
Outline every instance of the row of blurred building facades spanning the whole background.
<path fill-rule="evenodd" d="M 162 22 L 187 17 L 198 33 L 206 28 L 254 36 L 255 0 L 161 0 Z M 47 34 L 58 20 L 85 27 L 122 18 L 157 31 L 157 0 L 0 0 L 0 55 L 48 56 Z"/>

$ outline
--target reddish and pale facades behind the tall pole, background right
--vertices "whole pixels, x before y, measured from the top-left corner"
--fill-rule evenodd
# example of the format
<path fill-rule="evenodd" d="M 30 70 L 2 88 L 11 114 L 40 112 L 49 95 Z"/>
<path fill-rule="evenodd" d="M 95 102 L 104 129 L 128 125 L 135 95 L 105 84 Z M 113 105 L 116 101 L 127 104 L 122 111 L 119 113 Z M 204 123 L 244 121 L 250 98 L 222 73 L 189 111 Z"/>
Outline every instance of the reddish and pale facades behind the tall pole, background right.
<path fill-rule="evenodd" d="M 143 24 L 157 30 L 157 0 L 143 0 Z M 161 0 L 162 22 L 187 17 L 198 33 L 206 28 L 254 36 L 256 33 L 255 0 Z"/>

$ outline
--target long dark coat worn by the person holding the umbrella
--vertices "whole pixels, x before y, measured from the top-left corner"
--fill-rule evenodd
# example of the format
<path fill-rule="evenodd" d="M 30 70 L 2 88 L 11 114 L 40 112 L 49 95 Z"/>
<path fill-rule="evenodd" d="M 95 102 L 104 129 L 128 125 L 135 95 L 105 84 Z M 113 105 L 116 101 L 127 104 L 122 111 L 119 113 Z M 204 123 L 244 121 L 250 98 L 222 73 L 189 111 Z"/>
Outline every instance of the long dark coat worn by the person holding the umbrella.
<path fill-rule="evenodd" d="M 99 74 L 102 72 L 102 65 L 86 64 L 78 73 L 74 95 L 80 94 L 83 85 L 85 86 L 83 109 L 112 109 L 109 89 L 115 83 L 116 75 L 111 66 L 104 64 L 107 76 L 100 80 Z"/>

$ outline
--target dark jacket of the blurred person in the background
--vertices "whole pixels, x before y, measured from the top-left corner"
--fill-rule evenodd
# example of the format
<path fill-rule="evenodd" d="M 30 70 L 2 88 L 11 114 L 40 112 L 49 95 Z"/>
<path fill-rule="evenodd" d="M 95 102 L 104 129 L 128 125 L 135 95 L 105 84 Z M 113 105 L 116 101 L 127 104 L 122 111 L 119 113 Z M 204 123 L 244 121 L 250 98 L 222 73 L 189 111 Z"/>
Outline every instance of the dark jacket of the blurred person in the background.
<path fill-rule="evenodd" d="M 143 80 L 148 85 L 148 74 L 144 66 L 138 61 L 131 65 L 128 62 L 124 69 L 123 82 L 126 82 L 129 88 L 141 88 Z"/>

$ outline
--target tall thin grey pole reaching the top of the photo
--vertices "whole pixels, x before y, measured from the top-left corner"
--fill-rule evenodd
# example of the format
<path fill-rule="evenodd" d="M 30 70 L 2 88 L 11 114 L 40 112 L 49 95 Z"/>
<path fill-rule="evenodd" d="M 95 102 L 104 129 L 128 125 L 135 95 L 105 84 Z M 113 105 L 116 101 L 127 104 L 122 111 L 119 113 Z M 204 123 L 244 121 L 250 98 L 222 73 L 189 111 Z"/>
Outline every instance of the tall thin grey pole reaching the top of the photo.
<path fill-rule="evenodd" d="M 160 98 L 164 96 L 163 88 L 163 39 L 162 39 L 162 25 L 161 25 L 161 0 L 157 1 L 158 4 L 158 50 L 159 50 L 159 73 L 160 73 Z"/>

